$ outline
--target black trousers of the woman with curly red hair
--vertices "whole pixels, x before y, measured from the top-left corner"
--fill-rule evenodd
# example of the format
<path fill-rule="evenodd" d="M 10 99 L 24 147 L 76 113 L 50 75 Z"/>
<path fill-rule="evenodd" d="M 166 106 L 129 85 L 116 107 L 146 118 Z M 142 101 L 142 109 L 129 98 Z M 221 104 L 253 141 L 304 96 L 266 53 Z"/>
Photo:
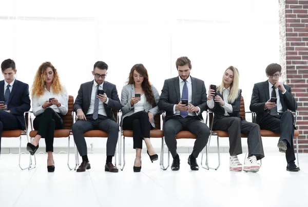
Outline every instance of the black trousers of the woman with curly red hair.
<path fill-rule="evenodd" d="M 54 130 L 64 127 L 62 114 L 58 114 L 48 107 L 42 114 L 35 117 L 33 127 L 38 131 L 38 135 L 45 138 L 46 152 L 53 152 Z"/>

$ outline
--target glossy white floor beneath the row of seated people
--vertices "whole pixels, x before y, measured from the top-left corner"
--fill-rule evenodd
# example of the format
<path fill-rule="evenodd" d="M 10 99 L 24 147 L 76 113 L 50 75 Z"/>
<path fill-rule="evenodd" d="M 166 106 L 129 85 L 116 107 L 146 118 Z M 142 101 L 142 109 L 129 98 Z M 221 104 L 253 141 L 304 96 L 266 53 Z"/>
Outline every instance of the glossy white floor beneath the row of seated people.
<path fill-rule="evenodd" d="M 308 154 L 300 154 L 301 171 L 287 172 L 282 153 L 267 153 L 258 173 L 230 172 L 227 153 L 218 171 L 190 171 L 188 155 L 180 154 L 181 168 L 173 172 L 142 154 L 142 172 L 133 173 L 134 154 L 127 154 L 124 170 L 109 173 L 104 154 L 89 154 L 92 169 L 76 173 L 67 155 L 55 154 L 55 172 L 47 173 L 47 155 L 36 156 L 34 170 L 21 171 L 18 155 L 2 154 L 0 206 L 308 206 Z M 210 163 L 216 155 L 210 153 Z"/>

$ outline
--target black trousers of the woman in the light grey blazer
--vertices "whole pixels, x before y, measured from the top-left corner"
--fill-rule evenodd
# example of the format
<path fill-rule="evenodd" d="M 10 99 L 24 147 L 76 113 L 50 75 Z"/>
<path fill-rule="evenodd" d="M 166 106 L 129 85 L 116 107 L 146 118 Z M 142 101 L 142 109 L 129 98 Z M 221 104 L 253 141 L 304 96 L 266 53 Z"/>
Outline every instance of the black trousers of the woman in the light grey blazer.
<path fill-rule="evenodd" d="M 123 130 L 132 130 L 133 149 L 142 149 L 143 138 L 150 138 L 153 129 L 146 111 L 139 111 L 123 119 Z"/>

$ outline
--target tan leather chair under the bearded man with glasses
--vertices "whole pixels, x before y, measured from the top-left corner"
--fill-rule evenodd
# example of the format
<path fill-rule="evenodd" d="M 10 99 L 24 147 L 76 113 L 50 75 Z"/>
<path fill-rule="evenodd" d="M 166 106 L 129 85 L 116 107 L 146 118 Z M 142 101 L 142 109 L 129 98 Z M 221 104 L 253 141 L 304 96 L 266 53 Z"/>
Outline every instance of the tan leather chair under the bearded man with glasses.
<path fill-rule="evenodd" d="M 115 121 L 118 123 L 118 126 L 119 126 L 120 111 L 112 110 L 112 112 L 113 112 L 113 115 L 115 117 Z M 77 120 L 77 116 L 75 116 L 75 121 L 76 120 Z M 89 130 L 89 131 L 84 133 L 84 136 L 85 136 L 85 138 L 86 137 L 108 138 L 108 133 L 103 131 L 103 130 Z M 119 137 L 119 133 L 118 133 L 118 137 Z M 114 160 L 115 160 L 114 165 L 117 166 L 117 148 L 115 149 Z M 74 170 L 76 170 L 78 165 L 79 165 L 78 150 L 76 150 L 76 149 L 75 149 L 75 162 L 76 162 L 76 165 L 75 165 Z"/>

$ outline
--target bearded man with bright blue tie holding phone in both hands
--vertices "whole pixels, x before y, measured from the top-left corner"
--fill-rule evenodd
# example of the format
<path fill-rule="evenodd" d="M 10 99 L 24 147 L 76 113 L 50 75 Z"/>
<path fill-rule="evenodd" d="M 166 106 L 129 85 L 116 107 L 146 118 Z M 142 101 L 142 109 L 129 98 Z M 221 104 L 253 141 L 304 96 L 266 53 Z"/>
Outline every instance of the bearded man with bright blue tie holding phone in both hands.
<path fill-rule="evenodd" d="M 199 170 L 196 158 L 206 146 L 210 134 L 202 118 L 202 112 L 207 110 L 206 89 L 203 80 L 190 76 L 191 62 L 188 57 L 179 57 L 176 67 L 179 76 L 165 80 L 158 102 L 159 109 L 166 111 L 164 135 L 173 157 L 171 170 L 180 169 L 176 134 L 182 130 L 197 135 L 188 164 L 191 170 Z"/>

